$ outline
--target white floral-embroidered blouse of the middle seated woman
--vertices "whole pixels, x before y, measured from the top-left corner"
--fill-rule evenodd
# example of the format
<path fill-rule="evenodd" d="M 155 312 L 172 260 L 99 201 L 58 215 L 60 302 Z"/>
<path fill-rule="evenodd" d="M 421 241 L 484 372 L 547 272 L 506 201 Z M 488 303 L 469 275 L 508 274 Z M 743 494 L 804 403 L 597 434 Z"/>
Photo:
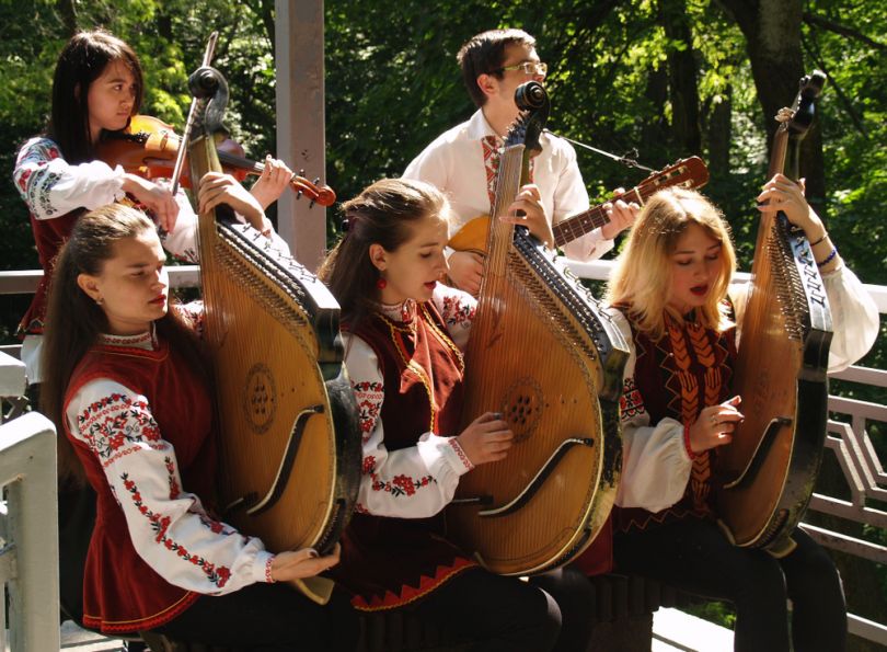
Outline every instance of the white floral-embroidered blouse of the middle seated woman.
<path fill-rule="evenodd" d="M 444 317 L 453 343 L 464 350 L 476 300 L 438 284 L 431 299 Z M 416 304 L 381 306 L 394 321 L 415 318 Z M 422 434 L 408 448 L 389 451 L 379 417 L 385 396 L 384 378 L 372 347 L 357 335 L 344 334 L 345 366 L 355 388 L 364 433 L 364 464 L 357 511 L 376 516 L 423 518 L 440 512 L 451 500 L 460 476 L 473 466 L 454 436 Z M 459 433 L 451 433 L 458 435 Z"/>

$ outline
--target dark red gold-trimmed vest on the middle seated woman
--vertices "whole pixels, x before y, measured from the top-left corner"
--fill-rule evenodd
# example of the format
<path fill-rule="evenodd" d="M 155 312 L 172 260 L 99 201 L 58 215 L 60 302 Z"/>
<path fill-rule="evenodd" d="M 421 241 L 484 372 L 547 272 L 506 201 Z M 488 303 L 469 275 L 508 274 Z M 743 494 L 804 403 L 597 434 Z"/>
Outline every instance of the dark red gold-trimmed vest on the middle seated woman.
<path fill-rule="evenodd" d="M 376 352 L 384 379 L 380 419 L 389 450 L 415 446 L 426 432 L 456 432 L 462 412 L 462 356 L 430 301 L 408 322 L 381 314 L 355 332 Z M 445 538 L 442 514 L 388 518 L 355 514 L 343 536 L 336 579 L 361 610 L 388 609 L 434 591 L 476 565 Z"/>

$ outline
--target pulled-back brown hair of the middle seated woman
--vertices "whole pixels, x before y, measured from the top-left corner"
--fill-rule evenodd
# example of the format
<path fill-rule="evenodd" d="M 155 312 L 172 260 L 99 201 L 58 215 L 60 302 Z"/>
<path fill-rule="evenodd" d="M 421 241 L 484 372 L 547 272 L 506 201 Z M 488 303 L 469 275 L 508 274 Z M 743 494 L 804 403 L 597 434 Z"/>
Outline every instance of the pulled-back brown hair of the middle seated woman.
<path fill-rule="evenodd" d="M 345 235 L 323 261 L 318 276 L 342 306 L 352 330 L 379 302 L 379 270 L 370 261 L 373 243 L 396 251 L 428 217 L 446 220 L 449 203 L 435 186 L 408 179 L 382 179 L 342 205 Z"/>

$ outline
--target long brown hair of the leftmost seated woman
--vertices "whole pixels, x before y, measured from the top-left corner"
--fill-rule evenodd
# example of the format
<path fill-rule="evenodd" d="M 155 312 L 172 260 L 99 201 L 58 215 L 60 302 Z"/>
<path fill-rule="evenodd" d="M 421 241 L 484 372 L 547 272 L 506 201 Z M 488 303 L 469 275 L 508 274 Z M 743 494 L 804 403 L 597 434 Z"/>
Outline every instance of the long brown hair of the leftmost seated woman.
<path fill-rule="evenodd" d="M 104 310 L 80 288 L 77 277 L 101 275 L 105 262 L 114 258 L 117 242 L 155 228 L 142 213 L 110 204 L 77 220 L 56 259 L 43 339 L 41 364 L 47 373 L 41 387 L 41 411 L 56 424 L 62 484 L 82 484 L 85 479 L 83 467 L 65 435 L 65 396 L 77 365 L 97 336 L 108 329 Z M 170 309 L 154 323 L 159 336 L 182 352 L 188 364 L 204 370 L 196 340 L 181 322 L 176 310 Z"/>

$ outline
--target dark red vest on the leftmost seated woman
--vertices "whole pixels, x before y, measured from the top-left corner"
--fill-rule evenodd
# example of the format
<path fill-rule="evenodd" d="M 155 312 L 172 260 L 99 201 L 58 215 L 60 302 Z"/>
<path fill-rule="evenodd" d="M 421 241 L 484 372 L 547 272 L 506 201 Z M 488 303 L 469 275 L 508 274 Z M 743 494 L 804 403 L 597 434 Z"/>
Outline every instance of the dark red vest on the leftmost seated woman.
<path fill-rule="evenodd" d="M 147 397 L 163 439 L 175 449 L 183 485 L 201 499 L 210 497 L 216 468 L 212 408 L 199 375 L 165 342 L 157 351 L 96 345 L 71 376 L 66 411 L 77 391 L 99 378 L 115 380 Z M 131 632 L 169 622 L 199 594 L 170 584 L 139 557 L 100 459 L 70 435 L 67 424 L 66 434 L 97 494 L 83 579 L 84 625 L 106 632 Z M 137 490 L 117 499 L 138 500 Z"/>

